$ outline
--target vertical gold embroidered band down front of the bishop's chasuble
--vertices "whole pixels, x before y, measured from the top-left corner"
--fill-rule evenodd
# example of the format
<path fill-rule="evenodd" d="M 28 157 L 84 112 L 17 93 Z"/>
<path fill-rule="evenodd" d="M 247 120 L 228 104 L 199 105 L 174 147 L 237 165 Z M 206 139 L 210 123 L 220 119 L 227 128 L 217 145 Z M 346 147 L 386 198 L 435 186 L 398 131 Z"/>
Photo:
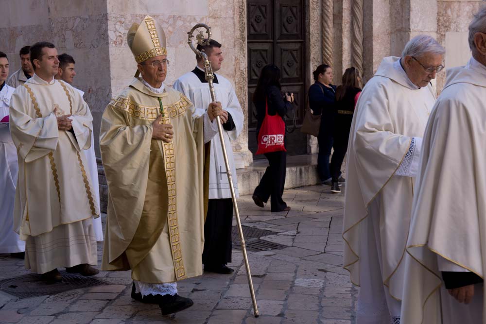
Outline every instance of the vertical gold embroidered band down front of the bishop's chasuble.
<path fill-rule="evenodd" d="M 167 107 L 164 107 L 163 123 L 170 124 L 171 119 L 168 117 L 169 112 Z M 169 221 L 169 238 L 171 240 L 172 260 L 174 262 L 174 273 L 177 280 L 186 277 L 186 269 L 182 260 L 181 242 L 179 237 L 179 223 L 177 220 L 177 198 L 175 185 L 175 152 L 174 144 L 162 143 L 162 151 L 164 153 L 165 174 L 167 177 L 167 192 L 169 196 L 169 206 L 167 219 Z"/>

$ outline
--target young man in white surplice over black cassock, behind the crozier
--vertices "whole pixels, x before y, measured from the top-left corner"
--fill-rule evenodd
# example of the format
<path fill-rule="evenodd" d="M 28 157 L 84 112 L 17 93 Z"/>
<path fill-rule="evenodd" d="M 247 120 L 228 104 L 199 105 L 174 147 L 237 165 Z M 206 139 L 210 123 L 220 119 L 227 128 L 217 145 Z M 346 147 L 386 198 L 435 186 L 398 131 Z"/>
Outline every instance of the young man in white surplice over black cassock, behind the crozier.
<path fill-rule="evenodd" d="M 197 45 L 199 51 L 208 55 L 212 71 L 221 68 L 224 60 L 221 44 L 211 39 L 206 46 Z M 204 59 L 196 57 L 197 65 L 191 71 L 182 75 L 174 83 L 174 89 L 185 94 L 197 108 L 208 106 L 211 100 L 208 81 L 205 79 Z M 214 73 L 214 92 L 216 100 L 221 102 L 226 122 L 223 124 L 228 162 L 233 174 L 233 186 L 236 197 L 238 182 L 233 157 L 231 141 L 236 140 L 243 129 L 243 111 L 233 86 L 224 76 Z M 231 226 L 233 224 L 233 201 L 229 189 L 223 148 L 219 136 L 211 139 L 209 157 L 209 201 L 206 222 L 204 223 L 204 271 L 215 273 L 232 273 L 233 269 L 226 266 L 231 262 Z"/>

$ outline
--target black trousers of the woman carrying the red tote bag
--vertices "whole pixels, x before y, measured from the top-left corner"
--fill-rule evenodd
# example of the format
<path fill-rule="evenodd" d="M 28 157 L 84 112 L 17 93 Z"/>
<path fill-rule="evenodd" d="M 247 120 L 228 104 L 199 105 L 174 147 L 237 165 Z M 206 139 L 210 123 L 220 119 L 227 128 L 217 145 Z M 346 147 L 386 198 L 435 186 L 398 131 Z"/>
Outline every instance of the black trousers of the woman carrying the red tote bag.
<path fill-rule="evenodd" d="M 270 207 L 273 212 L 282 211 L 287 207 L 287 204 L 282 200 L 287 152 L 279 151 L 265 153 L 264 155 L 268 159 L 269 166 L 253 194 L 264 203 L 268 202 L 268 198 L 270 198 Z"/>

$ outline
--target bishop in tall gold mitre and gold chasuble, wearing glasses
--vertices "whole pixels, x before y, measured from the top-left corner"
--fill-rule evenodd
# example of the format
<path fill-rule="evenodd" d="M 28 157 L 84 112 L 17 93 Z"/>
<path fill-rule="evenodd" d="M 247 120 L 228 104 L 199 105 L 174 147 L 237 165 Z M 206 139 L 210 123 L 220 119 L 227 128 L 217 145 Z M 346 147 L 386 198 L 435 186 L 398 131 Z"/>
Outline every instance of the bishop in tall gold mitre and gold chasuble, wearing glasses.
<path fill-rule="evenodd" d="M 138 71 L 101 123 L 109 192 L 102 267 L 131 270 L 132 298 L 166 315 L 193 304 L 177 295 L 176 282 L 203 273 L 205 154 L 222 109 L 216 102 L 195 109 L 164 85 L 165 34 L 152 17 L 133 24 L 127 41 Z"/>

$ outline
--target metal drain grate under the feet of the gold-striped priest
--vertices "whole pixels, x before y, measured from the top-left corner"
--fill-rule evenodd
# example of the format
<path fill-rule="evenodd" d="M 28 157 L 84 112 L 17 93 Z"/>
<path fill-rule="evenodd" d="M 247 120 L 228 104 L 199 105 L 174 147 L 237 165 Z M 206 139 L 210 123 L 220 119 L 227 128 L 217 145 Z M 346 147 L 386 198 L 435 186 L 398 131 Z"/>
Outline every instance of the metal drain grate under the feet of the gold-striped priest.
<path fill-rule="evenodd" d="M 73 289 L 110 285 L 110 283 L 84 277 L 79 274 L 67 273 L 64 271 L 61 271 L 61 274 L 63 279 L 61 282 L 57 283 L 47 283 L 43 281 L 40 274 L 37 273 L 3 279 L 0 280 L 0 290 L 18 298 L 28 298 L 53 295 Z"/>

